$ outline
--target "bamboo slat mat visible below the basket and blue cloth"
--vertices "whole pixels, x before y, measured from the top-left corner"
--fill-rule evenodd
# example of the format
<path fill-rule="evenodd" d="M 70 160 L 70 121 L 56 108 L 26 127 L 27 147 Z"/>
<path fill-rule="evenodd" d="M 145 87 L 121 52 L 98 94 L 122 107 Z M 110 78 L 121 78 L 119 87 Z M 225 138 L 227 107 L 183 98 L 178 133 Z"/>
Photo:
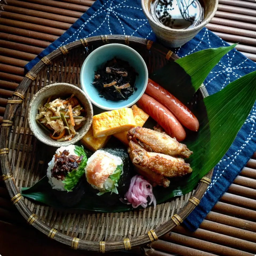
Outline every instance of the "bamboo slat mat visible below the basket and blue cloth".
<path fill-rule="evenodd" d="M 227 193 L 206 216 L 199 229 L 194 233 L 182 226 L 173 229 L 158 241 L 135 249 L 133 253 L 144 253 L 149 256 L 254 256 L 256 253 L 256 152 L 243 168 L 241 174 L 229 187 Z M 7 223 L 11 223 L 9 225 Z M 18 234 L 18 235 L 17 235 Z M 20 255 L 35 250 L 51 252 L 50 255 L 82 255 L 71 251 L 68 246 L 47 239 L 40 232 L 31 229 L 25 219 L 10 202 L 7 190 L 0 181 L 0 238 L 8 241 L 0 242 L 0 253 L 10 251 L 10 254 L 21 251 Z M 35 237 L 37 237 L 35 239 Z M 28 247 L 18 248 L 18 245 L 32 239 Z M 17 241 L 17 246 L 10 245 Z M 33 250 L 32 250 L 32 249 Z M 84 252 L 82 252 L 84 254 Z M 27 254 L 32 255 L 32 254 Z M 38 255 L 46 255 L 38 253 Z M 90 253 L 90 255 L 98 255 Z M 100 254 L 101 255 L 101 254 Z M 121 256 L 122 253 L 106 255 Z M 133 254 L 132 254 L 133 255 Z"/>

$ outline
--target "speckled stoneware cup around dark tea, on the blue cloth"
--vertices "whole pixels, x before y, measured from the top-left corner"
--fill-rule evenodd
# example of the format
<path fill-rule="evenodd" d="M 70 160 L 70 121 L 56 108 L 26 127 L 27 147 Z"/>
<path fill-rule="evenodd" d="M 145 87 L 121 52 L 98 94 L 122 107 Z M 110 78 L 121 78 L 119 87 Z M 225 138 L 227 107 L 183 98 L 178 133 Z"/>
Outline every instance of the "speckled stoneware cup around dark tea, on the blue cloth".
<path fill-rule="evenodd" d="M 218 7 L 218 0 L 202 0 L 205 11 L 202 23 L 190 29 L 171 29 L 163 24 L 157 23 L 150 15 L 151 1 L 154 0 L 141 0 L 142 10 L 157 38 L 162 42 L 163 45 L 171 48 L 182 46 L 195 37 L 195 35 L 211 21 Z"/>

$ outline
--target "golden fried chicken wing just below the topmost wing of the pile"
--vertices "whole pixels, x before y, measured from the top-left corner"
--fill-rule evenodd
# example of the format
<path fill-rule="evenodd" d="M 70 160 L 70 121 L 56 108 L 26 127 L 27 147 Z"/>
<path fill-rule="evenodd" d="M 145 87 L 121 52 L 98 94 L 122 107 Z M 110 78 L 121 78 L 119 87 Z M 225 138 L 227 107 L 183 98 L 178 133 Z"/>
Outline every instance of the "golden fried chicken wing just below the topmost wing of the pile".
<path fill-rule="evenodd" d="M 147 152 L 145 149 L 135 149 L 130 153 L 131 161 L 137 166 L 147 168 L 154 173 L 166 177 L 183 176 L 192 169 L 182 158 L 175 158 L 160 153 Z"/>

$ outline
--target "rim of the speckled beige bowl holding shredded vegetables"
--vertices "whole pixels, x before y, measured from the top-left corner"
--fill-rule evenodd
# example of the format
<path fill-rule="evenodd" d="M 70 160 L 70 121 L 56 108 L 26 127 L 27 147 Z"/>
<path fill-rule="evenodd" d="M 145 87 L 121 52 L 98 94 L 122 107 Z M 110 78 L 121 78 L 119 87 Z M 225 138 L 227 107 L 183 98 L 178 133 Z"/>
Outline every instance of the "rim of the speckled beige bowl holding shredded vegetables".
<path fill-rule="evenodd" d="M 56 86 L 69 86 L 71 88 L 73 88 L 74 90 L 78 90 L 88 101 L 88 105 L 89 105 L 89 109 L 90 109 L 90 113 L 88 113 L 89 116 L 91 116 L 89 119 L 89 123 L 88 123 L 88 129 L 85 130 L 85 132 L 83 133 L 79 133 L 77 136 L 75 136 L 73 139 L 71 139 L 70 141 L 48 141 L 45 139 L 41 138 L 41 135 L 39 133 L 37 133 L 34 128 L 33 125 L 31 124 L 31 120 L 32 120 L 32 113 L 31 113 L 31 107 L 32 105 L 34 105 L 36 103 L 36 98 L 38 97 L 38 94 L 40 93 L 41 90 L 45 90 L 44 88 L 49 88 L 49 87 L 56 87 Z M 28 111 L 27 111 L 27 122 L 29 125 L 29 128 L 31 130 L 31 132 L 34 134 L 34 136 L 41 141 L 42 143 L 51 146 L 51 147 L 61 147 L 61 146 L 69 146 L 72 145 L 76 142 L 78 142 L 90 129 L 91 123 L 92 123 L 92 119 L 93 119 L 93 106 L 91 105 L 91 101 L 88 97 L 88 95 L 81 90 L 79 87 L 75 86 L 75 85 L 71 85 L 70 83 L 52 83 L 50 85 L 46 85 L 45 87 L 41 88 L 36 94 L 33 95 L 30 103 L 29 103 L 29 107 L 28 107 Z M 83 125 L 85 125 L 86 123 L 84 123 Z M 83 126 L 82 126 L 83 127 Z M 49 137 L 50 138 L 50 137 Z M 49 139 L 50 140 L 50 139 Z"/>

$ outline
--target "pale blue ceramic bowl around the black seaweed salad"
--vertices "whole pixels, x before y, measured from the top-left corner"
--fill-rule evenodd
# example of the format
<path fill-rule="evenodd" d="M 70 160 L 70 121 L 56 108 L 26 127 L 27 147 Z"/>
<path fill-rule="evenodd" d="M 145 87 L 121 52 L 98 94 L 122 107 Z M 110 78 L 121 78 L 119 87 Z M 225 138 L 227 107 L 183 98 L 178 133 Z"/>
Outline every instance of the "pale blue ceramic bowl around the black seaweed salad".
<path fill-rule="evenodd" d="M 103 67 L 105 63 L 114 57 L 128 61 L 139 74 L 136 76 L 135 86 L 137 91 L 124 101 L 111 101 L 99 97 L 98 90 L 92 85 L 94 71 Z M 103 45 L 91 52 L 82 65 L 80 80 L 82 90 L 89 96 L 90 101 L 101 109 L 114 110 L 130 107 L 135 104 L 146 90 L 148 79 L 147 66 L 141 55 L 127 45 L 112 43 Z"/>

